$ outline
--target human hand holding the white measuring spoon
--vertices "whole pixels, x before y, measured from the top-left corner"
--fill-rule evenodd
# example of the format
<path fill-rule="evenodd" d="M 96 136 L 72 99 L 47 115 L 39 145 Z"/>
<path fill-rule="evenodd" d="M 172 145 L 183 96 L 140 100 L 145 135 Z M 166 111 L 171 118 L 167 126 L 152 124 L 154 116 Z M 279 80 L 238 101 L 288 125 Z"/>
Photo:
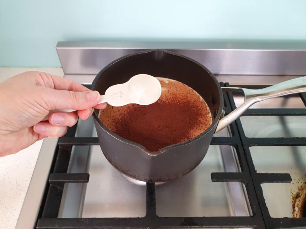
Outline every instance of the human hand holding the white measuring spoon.
<path fill-rule="evenodd" d="M 87 119 L 98 104 L 99 93 L 71 80 L 43 72 L 24 72 L 0 83 L 0 157 L 17 153 L 37 140 L 61 137 L 78 117 Z M 55 112 L 41 122 L 49 111 Z"/>

